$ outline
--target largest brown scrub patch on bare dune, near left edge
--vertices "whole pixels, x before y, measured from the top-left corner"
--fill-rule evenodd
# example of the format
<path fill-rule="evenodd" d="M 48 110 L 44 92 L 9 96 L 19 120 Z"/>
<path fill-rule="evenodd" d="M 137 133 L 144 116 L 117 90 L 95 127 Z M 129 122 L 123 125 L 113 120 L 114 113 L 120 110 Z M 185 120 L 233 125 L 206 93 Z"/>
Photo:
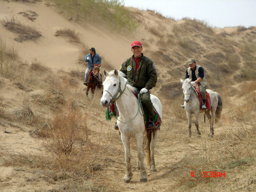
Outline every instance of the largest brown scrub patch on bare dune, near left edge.
<path fill-rule="evenodd" d="M 20 23 L 14 17 L 12 17 L 11 19 L 3 19 L 2 24 L 3 26 L 5 26 L 7 30 L 10 30 L 11 32 L 18 34 L 18 38 L 14 38 L 14 40 L 18 42 L 27 40 L 36 41 L 36 39 L 38 39 L 41 36 L 41 34 L 38 31 L 36 31 L 36 29 L 33 29 L 30 26 Z"/>

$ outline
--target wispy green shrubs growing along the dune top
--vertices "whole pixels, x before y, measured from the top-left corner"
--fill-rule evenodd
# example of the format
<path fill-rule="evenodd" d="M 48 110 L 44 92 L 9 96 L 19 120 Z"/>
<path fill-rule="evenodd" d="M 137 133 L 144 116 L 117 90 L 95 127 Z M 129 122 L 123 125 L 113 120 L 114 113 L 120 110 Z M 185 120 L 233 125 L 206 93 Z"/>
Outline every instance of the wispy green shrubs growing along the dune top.
<path fill-rule="evenodd" d="M 98 24 L 108 23 L 108 26 L 115 31 L 132 32 L 138 26 L 136 20 L 131 18 L 130 12 L 124 8 L 119 0 L 53 0 L 52 2 L 69 20 L 82 23 L 92 21 Z"/>

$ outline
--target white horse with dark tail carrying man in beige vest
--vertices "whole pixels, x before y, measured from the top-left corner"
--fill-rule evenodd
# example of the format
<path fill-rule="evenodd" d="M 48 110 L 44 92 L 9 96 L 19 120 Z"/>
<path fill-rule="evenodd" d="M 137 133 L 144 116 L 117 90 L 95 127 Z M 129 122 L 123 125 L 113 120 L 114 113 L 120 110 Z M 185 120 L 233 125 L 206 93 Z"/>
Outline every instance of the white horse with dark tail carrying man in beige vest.
<path fill-rule="evenodd" d="M 204 112 L 204 110 L 200 109 L 200 103 L 198 100 L 198 94 L 195 91 L 195 89 L 190 84 L 192 79 L 186 79 L 183 81 L 183 79 L 180 79 L 182 82 L 182 89 L 183 89 L 183 95 L 184 95 L 184 107 L 186 109 L 187 118 L 189 122 L 189 133 L 187 137 L 191 137 L 191 114 L 195 114 L 195 126 L 197 130 L 197 137 L 200 137 L 201 133 L 198 129 L 198 116 L 199 113 Z M 220 95 L 217 92 L 213 92 L 209 89 L 206 89 L 206 91 L 210 94 L 210 100 L 211 100 L 211 109 L 206 110 L 206 116 L 209 119 L 210 122 L 210 133 L 208 136 L 213 137 L 214 131 L 213 131 L 213 125 L 214 125 L 214 119 L 215 122 L 220 118 L 221 110 L 222 110 L 222 101 L 220 98 Z M 211 111 L 211 114 L 210 114 Z"/>

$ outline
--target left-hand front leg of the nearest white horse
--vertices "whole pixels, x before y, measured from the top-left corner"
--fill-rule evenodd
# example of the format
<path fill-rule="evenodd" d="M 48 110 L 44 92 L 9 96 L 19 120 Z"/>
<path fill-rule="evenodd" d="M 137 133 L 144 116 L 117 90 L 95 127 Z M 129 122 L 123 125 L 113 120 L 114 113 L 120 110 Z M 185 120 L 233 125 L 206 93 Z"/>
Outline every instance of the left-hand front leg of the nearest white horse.
<path fill-rule="evenodd" d="M 121 133 L 121 139 L 124 146 L 124 158 L 126 163 L 126 175 L 124 176 L 123 180 L 126 183 L 129 183 L 133 173 L 132 173 L 132 165 L 131 165 L 131 153 L 130 153 L 130 137 Z"/>

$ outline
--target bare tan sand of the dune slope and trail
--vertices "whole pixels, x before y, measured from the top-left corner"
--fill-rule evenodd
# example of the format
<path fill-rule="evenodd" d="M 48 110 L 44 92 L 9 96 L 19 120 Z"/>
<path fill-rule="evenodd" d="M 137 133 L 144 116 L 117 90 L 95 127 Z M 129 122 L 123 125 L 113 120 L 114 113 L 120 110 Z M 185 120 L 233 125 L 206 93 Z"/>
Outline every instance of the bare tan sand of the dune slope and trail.
<path fill-rule="evenodd" d="M 129 8 L 136 11 L 136 8 Z M 31 10 L 38 14 L 36 20 L 33 22 L 26 19 L 22 15 L 18 14 L 20 11 Z M 45 66 L 51 67 L 52 69 L 65 70 L 79 69 L 85 71 L 85 65 L 77 64 L 77 58 L 80 55 L 81 44 L 70 43 L 67 39 L 61 36 L 54 36 L 57 29 L 70 28 L 75 29 L 76 33 L 79 33 L 81 42 L 86 48 L 95 47 L 96 52 L 108 60 L 117 69 L 120 68 L 121 63 L 132 55 L 130 51 L 130 44 L 134 40 L 150 39 L 151 34 L 146 31 L 143 27 L 137 29 L 132 35 L 110 32 L 105 30 L 103 26 L 95 26 L 94 23 L 88 23 L 86 26 L 80 25 L 75 22 L 69 22 L 62 14 L 56 13 L 53 7 L 45 5 L 45 1 L 37 2 L 36 4 L 21 3 L 21 2 L 7 2 L 0 1 L 0 20 L 6 17 L 14 16 L 24 24 L 36 27 L 37 30 L 42 33 L 40 39 L 34 41 L 17 42 L 14 41 L 16 36 L 14 33 L 9 32 L 4 26 L 0 26 L 0 34 L 5 39 L 7 44 L 14 45 L 23 60 L 31 61 L 37 59 L 41 61 Z M 155 20 L 152 20 L 151 14 L 148 14 L 145 18 L 148 19 L 150 24 L 154 24 Z M 53 19 L 54 18 L 54 19 Z M 182 23 L 183 21 L 171 23 Z M 162 23 L 165 24 L 164 22 Z M 170 27 L 170 22 L 166 24 L 166 27 Z M 227 33 L 232 34 L 235 31 L 234 28 L 227 29 L 216 29 L 216 33 Z M 239 35 L 230 36 L 233 40 L 239 41 Z M 200 43 L 200 42 L 198 42 Z M 204 45 L 205 46 L 205 45 Z M 151 50 L 156 50 L 155 45 L 149 45 Z M 104 63 L 102 63 L 104 68 Z M 161 70 L 160 70 L 161 71 Z M 164 71 L 162 69 L 162 71 Z M 161 72 L 162 72 L 161 71 Z M 161 73 L 162 74 L 162 73 Z M 23 96 L 28 94 L 26 97 L 32 98 L 33 94 L 39 94 L 41 90 L 34 89 L 29 93 L 17 88 L 7 79 L 0 79 L 1 97 L 8 110 L 15 110 L 20 107 L 23 102 Z M 81 87 L 83 85 L 81 84 Z M 155 91 L 156 92 L 156 91 Z M 154 93 L 154 91 L 153 91 Z M 22 97 L 19 97 L 22 96 Z M 168 101 L 162 101 L 165 103 Z M 120 154 L 116 154 L 114 157 L 110 157 L 113 160 L 110 166 L 102 170 L 101 175 L 109 180 L 109 182 L 115 185 L 117 191 L 170 191 L 169 189 L 176 186 L 176 181 L 173 180 L 174 173 L 179 174 L 177 167 L 183 164 L 184 157 L 192 157 L 198 153 L 198 149 L 202 149 L 208 144 L 206 142 L 218 141 L 222 138 L 225 128 L 222 126 L 222 120 L 216 125 L 214 129 L 214 139 L 209 141 L 207 134 L 209 132 L 209 124 L 203 123 L 201 117 L 199 122 L 199 129 L 201 130 L 202 138 L 196 138 L 195 126 L 192 125 L 192 138 L 185 138 L 187 135 L 187 120 L 176 119 L 175 117 L 168 116 L 169 110 L 164 107 L 163 111 L 163 125 L 159 138 L 156 145 L 155 161 L 158 172 L 150 174 L 150 170 L 147 166 L 148 171 L 148 182 L 139 182 L 139 171 L 135 170 L 136 166 L 136 144 L 132 144 L 132 165 L 133 165 L 133 178 L 129 184 L 121 182 L 124 176 L 125 162 L 124 162 L 124 149 L 121 143 L 121 139 L 118 141 L 118 132 L 114 130 L 114 122 L 105 122 L 105 110 L 101 110 L 100 115 L 97 118 L 97 122 L 92 123 L 90 126 L 104 125 L 106 131 L 111 132 L 118 141 L 118 145 L 114 146 Z M 30 127 L 19 125 L 16 122 L 15 125 L 8 124 L 7 121 L 1 121 L 1 127 L 7 132 L 1 132 L 0 143 L 1 150 L 10 152 L 18 152 L 19 154 L 33 152 L 43 155 L 46 151 L 41 146 L 41 141 L 38 138 L 31 137 L 29 131 Z M 94 124 L 94 125 L 93 125 Z M 134 141 L 134 140 L 133 140 Z M 217 191 L 229 191 L 236 190 L 243 185 L 249 185 L 251 179 L 255 177 L 255 166 L 247 166 L 246 174 L 241 174 L 241 169 L 234 170 L 232 176 L 226 175 L 225 178 L 219 178 L 221 185 L 216 184 Z M 196 174 L 203 174 L 197 172 Z M 214 171 L 214 170 L 208 170 Z M 2 192 L 17 192 L 17 191 L 49 191 L 52 187 L 59 183 L 53 180 L 51 177 L 45 177 L 42 173 L 37 171 L 27 171 L 26 168 L 17 168 L 15 166 L 3 166 L 0 165 L 0 191 Z M 183 173 L 184 174 L 184 173 Z M 191 177 L 191 170 L 188 170 L 184 175 L 185 178 Z M 207 183 L 201 183 L 205 185 L 205 191 L 210 188 Z M 179 187 L 179 186 L 177 186 Z M 231 187 L 233 187 L 231 189 Z M 249 185 L 247 191 L 255 190 L 255 187 Z M 178 190 L 177 190 L 178 191 Z M 180 189 L 179 191 L 183 191 Z M 210 190 L 214 191 L 214 190 Z M 245 190 L 244 190 L 245 191 Z"/>

